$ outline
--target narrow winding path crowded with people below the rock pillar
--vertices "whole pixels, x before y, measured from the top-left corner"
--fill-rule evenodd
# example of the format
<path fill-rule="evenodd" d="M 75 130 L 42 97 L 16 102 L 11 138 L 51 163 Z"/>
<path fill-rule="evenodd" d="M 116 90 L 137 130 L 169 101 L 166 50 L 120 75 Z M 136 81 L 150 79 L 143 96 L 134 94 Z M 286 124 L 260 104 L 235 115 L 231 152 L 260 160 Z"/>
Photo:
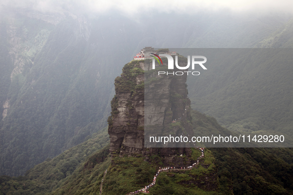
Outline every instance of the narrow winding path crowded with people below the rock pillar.
<path fill-rule="evenodd" d="M 131 192 L 128 193 L 127 195 L 133 195 L 133 194 L 138 194 L 138 193 L 149 193 L 148 189 L 153 187 L 156 184 L 156 180 L 157 180 L 157 176 L 160 174 L 160 172 L 167 172 L 167 171 L 185 171 L 185 170 L 190 170 L 193 167 L 195 167 L 196 165 L 198 165 L 199 163 L 199 159 L 204 157 L 204 147 L 196 147 L 197 149 L 199 149 L 201 151 L 201 156 L 197 158 L 197 161 L 194 162 L 192 165 L 187 166 L 187 167 L 180 167 L 180 168 L 176 168 L 176 167 L 160 167 L 159 170 L 157 171 L 156 175 L 154 176 L 153 182 L 147 186 L 145 186 L 144 188 L 137 190 L 135 192 Z"/>

